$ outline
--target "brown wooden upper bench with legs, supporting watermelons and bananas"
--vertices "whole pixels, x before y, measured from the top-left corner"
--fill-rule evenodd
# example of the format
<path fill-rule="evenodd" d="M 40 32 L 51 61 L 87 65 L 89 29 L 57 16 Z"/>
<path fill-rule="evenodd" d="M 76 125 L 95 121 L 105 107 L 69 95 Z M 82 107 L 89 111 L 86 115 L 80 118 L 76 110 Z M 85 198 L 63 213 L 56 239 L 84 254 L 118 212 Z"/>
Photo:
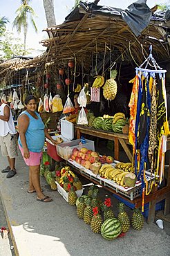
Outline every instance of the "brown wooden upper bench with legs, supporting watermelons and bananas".
<path fill-rule="evenodd" d="M 93 129 L 83 125 L 75 125 L 75 131 L 77 138 L 81 137 L 81 134 L 88 134 L 97 138 L 105 138 L 106 140 L 113 140 L 115 143 L 114 147 L 114 158 L 119 161 L 120 156 L 120 144 L 122 145 L 124 152 L 128 156 L 129 160 L 132 161 L 132 153 L 129 149 L 129 136 L 128 134 L 117 134 L 113 131 L 104 131 L 102 129 Z"/>

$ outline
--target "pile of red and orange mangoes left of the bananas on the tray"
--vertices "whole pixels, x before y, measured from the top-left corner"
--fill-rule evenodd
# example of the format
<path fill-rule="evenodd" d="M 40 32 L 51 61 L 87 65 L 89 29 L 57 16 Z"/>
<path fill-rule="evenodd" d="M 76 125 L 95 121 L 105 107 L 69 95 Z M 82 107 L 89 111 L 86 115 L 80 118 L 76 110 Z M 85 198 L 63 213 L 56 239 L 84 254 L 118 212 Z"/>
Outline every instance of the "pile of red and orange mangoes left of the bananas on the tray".
<path fill-rule="evenodd" d="M 113 163 L 114 161 L 112 156 L 100 156 L 99 153 L 93 152 L 86 147 L 82 147 L 81 149 L 77 149 L 77 147 L 75 147 L 70 158 L 84 166 L 86 169 L 92 171 L 95 169 L 95 172 L 100 170 L 102 164 Z"/>

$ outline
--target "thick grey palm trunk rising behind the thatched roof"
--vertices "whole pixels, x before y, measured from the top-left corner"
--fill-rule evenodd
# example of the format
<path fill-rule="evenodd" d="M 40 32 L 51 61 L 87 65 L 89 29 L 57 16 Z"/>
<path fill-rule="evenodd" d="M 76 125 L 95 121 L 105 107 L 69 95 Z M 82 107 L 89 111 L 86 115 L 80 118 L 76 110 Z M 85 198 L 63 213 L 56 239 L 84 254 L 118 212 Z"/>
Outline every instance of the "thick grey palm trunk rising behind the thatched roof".
<path fill-rule="evenodd" d="M 44 10 L 46 13 L 47 26 L 48 28 L 50 28 L 51 26 L 56 25 L 54 0 L 43 0 L 43 3 L 44 3 Z"/>

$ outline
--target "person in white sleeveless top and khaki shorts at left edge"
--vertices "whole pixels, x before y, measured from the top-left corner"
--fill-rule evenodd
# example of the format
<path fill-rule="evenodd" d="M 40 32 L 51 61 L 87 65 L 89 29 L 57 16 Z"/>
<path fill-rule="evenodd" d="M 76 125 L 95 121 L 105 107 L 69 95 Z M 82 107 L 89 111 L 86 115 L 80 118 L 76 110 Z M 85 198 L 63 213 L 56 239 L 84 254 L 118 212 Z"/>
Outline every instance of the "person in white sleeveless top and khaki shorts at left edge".
<path fill-rule="evenodd" d="M 9 165 L 2 173 L 8 173 L 6 178 L 15 176 L 15 158 L 17 153 L 17 131 L 12 118 L 12 112 L 6 102 L 1 99 L 0 106 L 0 145 L 2 156 L 7 156 Z"/>

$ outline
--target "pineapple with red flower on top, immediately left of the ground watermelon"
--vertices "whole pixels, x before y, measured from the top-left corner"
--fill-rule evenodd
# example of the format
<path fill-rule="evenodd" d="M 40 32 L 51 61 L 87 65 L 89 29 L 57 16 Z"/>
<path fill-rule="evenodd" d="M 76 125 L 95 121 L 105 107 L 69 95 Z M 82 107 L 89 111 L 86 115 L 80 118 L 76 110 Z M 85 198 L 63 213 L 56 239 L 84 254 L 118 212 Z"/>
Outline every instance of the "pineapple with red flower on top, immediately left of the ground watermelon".
<path fill-rule="evenodd" d="M 102 216 L 100 215 L 98 208 L 93 208 L 93 217 L 91 219 L 91 230 L 94 233 L 100 233 L 100 228 L 102 226 Z"/>

